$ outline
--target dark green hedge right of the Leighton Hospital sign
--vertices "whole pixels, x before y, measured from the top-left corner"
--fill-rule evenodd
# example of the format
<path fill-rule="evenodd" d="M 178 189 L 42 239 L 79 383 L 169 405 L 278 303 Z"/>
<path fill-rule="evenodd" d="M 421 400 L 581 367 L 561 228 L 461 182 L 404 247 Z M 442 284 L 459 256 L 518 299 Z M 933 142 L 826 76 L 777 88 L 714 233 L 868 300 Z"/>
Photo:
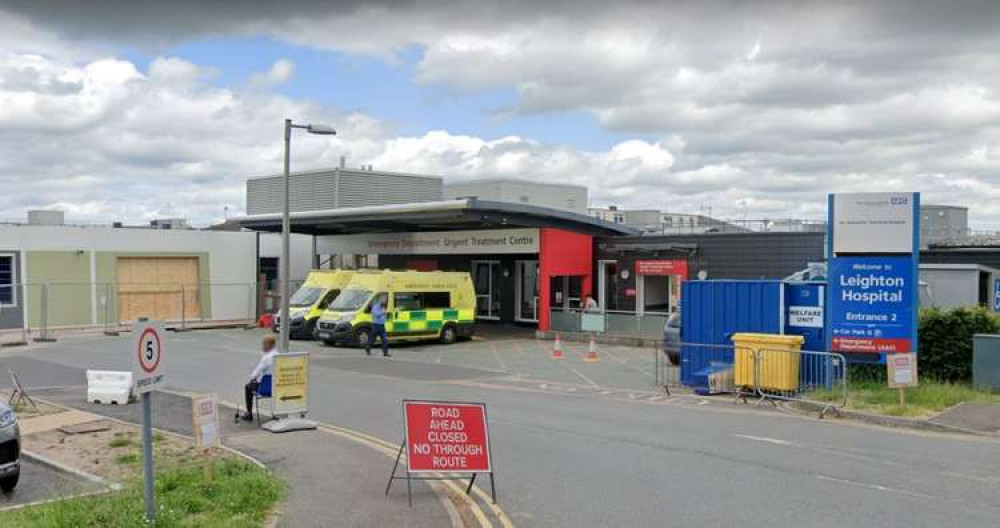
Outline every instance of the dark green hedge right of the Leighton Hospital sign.
<path fill-rule="evenodd" d="M 1000 319 L 985 308 L 920 311 L 920 377 L 949 382 L 972 380 L 973 334 L 1000 332 Z"/>

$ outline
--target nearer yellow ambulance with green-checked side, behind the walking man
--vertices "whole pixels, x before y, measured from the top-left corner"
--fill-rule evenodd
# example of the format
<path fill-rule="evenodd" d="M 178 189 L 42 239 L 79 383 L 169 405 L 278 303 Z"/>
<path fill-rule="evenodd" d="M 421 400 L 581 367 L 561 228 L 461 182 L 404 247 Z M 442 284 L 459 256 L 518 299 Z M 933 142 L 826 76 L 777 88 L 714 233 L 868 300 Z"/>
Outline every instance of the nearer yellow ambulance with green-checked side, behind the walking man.
<path fill-rule="evenodd" d="M 327 308 L 316 338 L 327 345 L 363 346 L 371 339 L 371 309 L 385 299 L 390 341 L 454 343 L 475 331 L 476 293 L 467 272 L 359 271 Z"/>

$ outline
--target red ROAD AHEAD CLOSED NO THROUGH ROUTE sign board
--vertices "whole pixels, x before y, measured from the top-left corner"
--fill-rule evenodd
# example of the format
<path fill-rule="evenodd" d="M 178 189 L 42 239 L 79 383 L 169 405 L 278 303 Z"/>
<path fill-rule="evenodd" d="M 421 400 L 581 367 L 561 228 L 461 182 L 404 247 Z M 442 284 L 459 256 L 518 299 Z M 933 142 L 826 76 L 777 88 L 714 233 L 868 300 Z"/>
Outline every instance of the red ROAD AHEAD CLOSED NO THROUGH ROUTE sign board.
<path fill-rule="evenodd" d="M 489 473 L 486 405 L 404 401 L 408 471 Z"/>

